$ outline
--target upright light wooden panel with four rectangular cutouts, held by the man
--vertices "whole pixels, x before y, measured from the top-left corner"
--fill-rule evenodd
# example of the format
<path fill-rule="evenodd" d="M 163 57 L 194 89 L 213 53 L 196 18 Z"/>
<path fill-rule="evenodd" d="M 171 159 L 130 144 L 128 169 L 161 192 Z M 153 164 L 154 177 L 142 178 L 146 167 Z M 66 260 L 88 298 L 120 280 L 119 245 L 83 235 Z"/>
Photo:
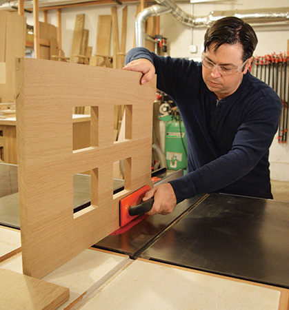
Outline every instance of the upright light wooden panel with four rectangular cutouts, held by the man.
<path fill-rule="evenodd" d="M 41 278 L 118 229 L 119 200 L 151 183 L 156 81 L 140 85 L 140 79 L 138 72 L 90 65 L 41 59 L 17 62 L 25 274 Z M 92 107 L 91 146 L 73 151 L 72 109 L 79 105 Z M 126 105 L 126 139 L 119 143 L 114 143 L 115 105 Z M 113 163 L 120 160 L 125 160 L 125 188 L 113 195 Z M 72 178 L 88 170 L 92 205 L 73 214 Z"/>

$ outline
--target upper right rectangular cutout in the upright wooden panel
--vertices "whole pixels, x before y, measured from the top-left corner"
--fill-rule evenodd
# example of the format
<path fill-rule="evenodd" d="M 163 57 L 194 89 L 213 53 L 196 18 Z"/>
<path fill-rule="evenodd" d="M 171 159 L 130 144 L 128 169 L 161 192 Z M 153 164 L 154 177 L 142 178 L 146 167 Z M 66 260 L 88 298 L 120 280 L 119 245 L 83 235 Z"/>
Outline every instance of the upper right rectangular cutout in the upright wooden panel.
<path fill-rule="evenodd" d="M 132 138 L 132 105 L 114 105 L 114 141 Z"/>

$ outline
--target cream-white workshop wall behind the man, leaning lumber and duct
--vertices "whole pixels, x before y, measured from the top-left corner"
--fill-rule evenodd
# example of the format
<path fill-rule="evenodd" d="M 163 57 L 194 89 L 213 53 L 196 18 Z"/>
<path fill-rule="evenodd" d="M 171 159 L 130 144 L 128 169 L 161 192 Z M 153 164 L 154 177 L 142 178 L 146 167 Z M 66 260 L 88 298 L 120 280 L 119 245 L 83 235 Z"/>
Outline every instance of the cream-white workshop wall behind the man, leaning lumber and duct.
<path fill-rule="evenodd" d="M 207 16 L 211 11 L 224 10 L 250 10 L 260 8 L 281 8 L 288 7 L 288 0 L 241 0 L 241 1 L 220 1 L 219 3 L 195 3 L 190 4 L 177 1 L 178 6 L 194 16 Z M 134 42 L 134 19 L 137 4 L 128 4 L 128 32 L 126 39 L 126 52 L 133 47 Z M 89 30 L 88 45 L 92 46 L 92 54 L 95 52 L 97 38 L 98 16 L 111 14 L 112 6 L 88 6 L 79 8 L 62 9 L 62 49 L 66 56 L 70 56 L 72 37 L 74 31 L 75 17 L 77 14 L 85 14 L 85 28 Z M 121 36 L 121 16 L 123 6 L 117 6 L 119 37 Z M 33 24 L 32 14 L 26 13 L 28 24 Z M 40 12 L 39 19 L 43 21 L 43 14 Z M 56 11 L 48 11 L 48 23 L 57 25 Z M 203 35 L 206 28 L 194 28 L 193 30 L 186 25 L 179 23 L 171 14 L 161 16 L 161 34 L 168 38 L 168 54 L 174 57 L 188 57 L 199 60 L 202 52 Z M 259 43 L 255 56 L 272 54 L 273 52 L 285 52 L 287 40 L 289 39 L 289 29 L 287 25 L 262 25 L 254 26 L 257 32 Z M 196 53 L 190 53 L 190 45 L 197 46 Z M 112 43 L 111 43 L 111 55 Z M 271 177 L 273 180 L 289 181 L 289 146 L 281 144 L 275 137 L 270 148 Z"/>

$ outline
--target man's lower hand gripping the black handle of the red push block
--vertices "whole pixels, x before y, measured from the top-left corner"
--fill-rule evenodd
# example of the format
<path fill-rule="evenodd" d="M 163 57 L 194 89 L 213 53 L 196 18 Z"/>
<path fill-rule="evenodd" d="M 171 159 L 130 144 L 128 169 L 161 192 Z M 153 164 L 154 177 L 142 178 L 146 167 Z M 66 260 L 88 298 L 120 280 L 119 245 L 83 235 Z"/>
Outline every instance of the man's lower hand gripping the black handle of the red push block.
<path fill-rule="evenodd" d="M 175 206 L 177 205 L 177 198 L 170 183 L 153 187 L 146 193 L 146 196 L 143 197 L 143 201 L 146 201 L 152 197 L 154 197 L 155 203 L 152 205 L 152 209 L 146 213 L 148 215 L 170 214 L 174 211 Z"/>

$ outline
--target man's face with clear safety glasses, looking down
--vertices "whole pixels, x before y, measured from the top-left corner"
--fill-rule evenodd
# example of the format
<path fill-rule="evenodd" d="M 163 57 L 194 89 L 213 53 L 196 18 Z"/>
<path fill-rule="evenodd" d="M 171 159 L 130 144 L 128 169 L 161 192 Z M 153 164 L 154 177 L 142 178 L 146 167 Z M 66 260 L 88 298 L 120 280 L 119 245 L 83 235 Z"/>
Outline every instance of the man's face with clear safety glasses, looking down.
<path fill-rule="evenodd" d="M 216 94 L 219 100 L 230 96 L 230 94 L 233 94 L 237 90 L 243 79 L 243 74 L 246 74 L 252 62 L 252 57 L 247 61 L 243 71 L 243 68 L 241 68 L 238 72 L 230 75 L 222 74 L 222 70 L 219 70 L 218 66 L 222 66 L 225 69 L 237 68 L 243 63 L 242 55 L 243 48 L 238 44 L 223 44 L 216 52 L 214 51 L 214 45 L 212 45 L 203 53 L 203 59 L 217 65 L 213 70 L 208 70 L 203 65 L 203 81 L 206 83 L 208 89 Z"/>

